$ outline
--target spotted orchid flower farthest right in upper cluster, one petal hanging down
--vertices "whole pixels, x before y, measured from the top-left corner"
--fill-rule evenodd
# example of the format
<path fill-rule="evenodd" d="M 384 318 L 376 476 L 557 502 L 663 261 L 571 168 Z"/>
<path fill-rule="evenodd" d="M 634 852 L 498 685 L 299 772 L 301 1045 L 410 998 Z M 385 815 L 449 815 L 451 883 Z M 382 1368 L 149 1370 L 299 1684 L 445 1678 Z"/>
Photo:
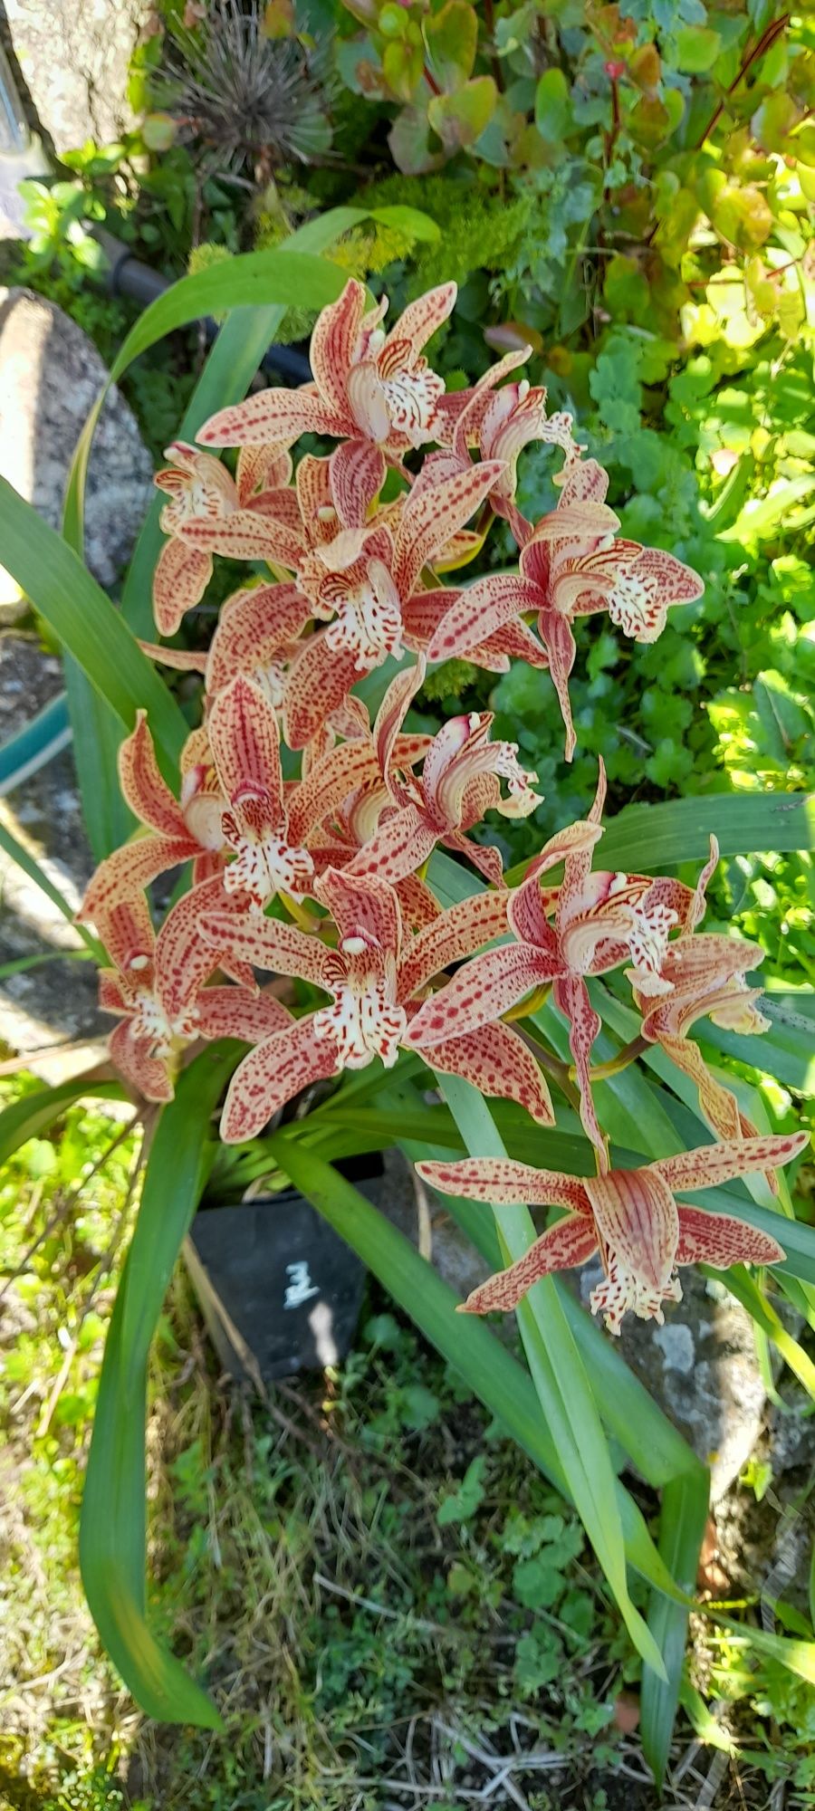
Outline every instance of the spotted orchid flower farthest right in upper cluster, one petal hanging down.
<path fill-rule="evenodd" d="M 458 594 L 427 647 L 429 661 L 469 656 L 487 636 L 536 612 L 552 685 L 565 724 L 565 759 L 576 748 L 569 703 L 576 616 L 609 610 L 636 641 L 656 641 L 672 605 L 701 598 L 697 572 L 659 547 L 616 540 L 619 516 L 609 509 L 609 474 L 596 460 L 572 460 L 558 507 L 525 540 L 520 572 L 491 572 Z"/>

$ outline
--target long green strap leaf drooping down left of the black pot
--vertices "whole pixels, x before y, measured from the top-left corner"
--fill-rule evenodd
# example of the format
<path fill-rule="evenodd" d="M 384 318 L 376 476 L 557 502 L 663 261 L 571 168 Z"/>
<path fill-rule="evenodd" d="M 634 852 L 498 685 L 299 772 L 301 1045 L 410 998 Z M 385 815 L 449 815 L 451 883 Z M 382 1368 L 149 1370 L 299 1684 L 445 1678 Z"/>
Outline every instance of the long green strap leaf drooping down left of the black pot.
<path fill-rule="evenodd" d="M 170 1275 L 201 1199 L 210 1116 L 235 1045 L 212 1045 L 179 1076 L 145 1170 L 141 1206 L 105 1344 L 80 1525 L 91 1615 L 149 1717 L 221 1728 L 206 1693 L 150 1634 L 145 1614 L 147 1360 Z"/>

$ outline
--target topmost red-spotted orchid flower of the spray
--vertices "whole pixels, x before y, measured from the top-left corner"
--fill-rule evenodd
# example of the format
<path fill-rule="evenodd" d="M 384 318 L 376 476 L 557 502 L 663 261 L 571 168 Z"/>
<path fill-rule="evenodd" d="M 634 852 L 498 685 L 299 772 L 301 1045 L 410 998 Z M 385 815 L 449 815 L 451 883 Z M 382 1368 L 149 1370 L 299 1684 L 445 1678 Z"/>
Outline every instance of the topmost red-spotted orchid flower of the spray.
<path fill-rule="evenodd" d="M 435 438 L 435 417 L 444 378 L 422 357 L 431 335 L 447 321 L 456 284 L 444 283 L 409 302 L 386 333 L 388 299 L 366 310 L 362 283 L 350 279 L 337 302 L 317 319 L 312 333 L 313 382 L 301 389 L 261 389 L 219 409 L 199 429 L 206 447 L 293 446 L 301 435 L 369 442 L 391 460 Z"/>

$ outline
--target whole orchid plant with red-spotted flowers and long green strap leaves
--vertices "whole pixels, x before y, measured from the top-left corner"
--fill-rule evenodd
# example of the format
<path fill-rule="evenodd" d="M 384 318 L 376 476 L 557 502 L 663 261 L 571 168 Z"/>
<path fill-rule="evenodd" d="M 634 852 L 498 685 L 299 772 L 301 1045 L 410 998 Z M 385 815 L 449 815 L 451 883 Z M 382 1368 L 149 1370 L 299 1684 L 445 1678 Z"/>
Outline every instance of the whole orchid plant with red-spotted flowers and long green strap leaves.
<path fill-rule="evenodd" d="M 353 225 L 351 212 L 281 252 L 185 279 L 123 348 L 114 375 L 181 321 L 230 310 L 158 474 L 161 502 L 123 616 L 11 487 L 0 496 L 4 561 L 71 656 L 78 764 L 101 857 L 82 933 L 101 962 L 101 1005 L 118 1020 L 110 1058 L 123 1088 L 159 1108 L 105 1351 L 83 1577 L 145 1710 L 217 1722 L 145 1619 L 143 1418 L 152 1329 L 223 1101 L 221 1139 L 243 1148 L 223 1150 L 219 1164 L 288 1175 L 574 1501 L 643 1655 L 643 1735 L 659 1773 L 708 1474 L 556 1271 L 599 1253 L 590 1306 L 610 1333 L 625 1313 L 661 1320 L 681 1293 L 677 1268 L 694 1262 L 759 1266 L 755 1277 L 734 1273 L 734 1286 L 764 1331 L 782 1331 L 768 1270 L 811 1315 L 815 1235 L 795 1221 L 781 1168 L 804 1137 L 753 1125 L 744 1088 L 737 1101 L 692 1036 L 705 1016 L 764 1029 L 746 985 L 761 953 L 701 927 L 719 846 L 811 846 L 811 819 L 790 797 L 717 797 L 705 810 L 636 808 L 603 829 L 599 770 L 585 819 L 565 824 L 525 873 L 505 877 L 489 833 L 473 835 L 489 811 L 531 813 L 536 777 L 493 739 L 489 715 L 453 717 L 433 737 L 411 728 L 427 663 L 462 656 L 500 674 L 520 659 L 549 672 L 554 697 L 542 683 L 542 710 L 560 712 L 570 755 L 580 618 L 609 612 L 650 641 L 701 581 L 619 536 L 603 469 L 583 456 L 570 418 L 549 417 L 545 393 L 518 378 L 523 353 L 473 389 L 444 393 L 426 346 L 453 311 L 453 284 L 389 330 L 384 301 L 371 306 L 359 283 L 339 293 L 337 270 L 313 252 Z M 328 304 L 312 340 L 313 382 L 241 402 L 290 299 Z M 67 505 L 74 547 L 91 431 Z M 302 435 L 331 451 L 295 458 Z M 536 523 L 514 502 L 529 440 L 551 442 L 558 465 L 558 505 Z M 225 447 L 239 449 L 234 471 Z M 458 581 L 496 516 L 518 543 L 518 569 Z M 208 650 L 156 643 L 176 634 L 223 556 L 246 561 L 246 578 Z M 196 728 L 156 663 L 201 674 Z M 125 837 L 116 744 L 129 829 L 136 819 Z M 695 886 L 672 873 L 685 860 L 699 864 Z M 147 889 L 168 873 L 174 904 L 156 929 Z M 610 994 L 603 978 L 614 971 Z M 290 1003 L 268 976 L 286 978 Z M 625 1043 L 610 1029 L 621 1016 Z M 772 1034 L 764 1043 L 772 1067 Z M 317 1079 L 328 1085 L 321 1105 L 277 1125 Z M 92 1090 L 82 1078 L 71 1087 Z M 65 1088 L 27 1096 L 0 1119 L 0 1148 L 47 1125 L 63 1099 Z M 377 1143 L 422 1159 L 493 1262 L 469 1302 L 456 1304 L 331 1168 Z M 750 1192 L 726 1186 L 741 1177 Z M 676 1199 L 699 1192 L 701 1204 Z M 542 1233 L 527 1203 L 554 1210 Z M 523 1360 L 478 1318 L 493 1308 L 516 1308 Z M 806 1378 L 806 1356 L 782 1338 Z M 657 1545 L 609 1436 L 663 1492 Z M 632 1570 L 652 1588 L 648 1619 L 632 1603 Z M 755 1639 L 815 1679 L 806 1643 Z"/>

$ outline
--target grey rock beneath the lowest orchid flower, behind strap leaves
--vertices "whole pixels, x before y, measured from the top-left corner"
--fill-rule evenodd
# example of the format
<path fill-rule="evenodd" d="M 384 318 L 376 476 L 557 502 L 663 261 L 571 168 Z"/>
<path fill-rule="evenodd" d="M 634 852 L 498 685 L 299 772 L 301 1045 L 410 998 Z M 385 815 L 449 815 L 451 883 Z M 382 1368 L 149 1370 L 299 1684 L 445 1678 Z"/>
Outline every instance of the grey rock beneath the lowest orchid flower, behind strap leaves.
<path fill-rule="evenodd" d="M 583 1302 L 599 1266 L 580 1277 Z M 717 1503 L 746 1465 L 764 1422 L 753 1324 L 724 1284 L 681 1271 L 683 1300 L 665 1302 L 665 1326 L 627 1315 L 619 1349 L 694 1452 L 710 1465 Z"/>

